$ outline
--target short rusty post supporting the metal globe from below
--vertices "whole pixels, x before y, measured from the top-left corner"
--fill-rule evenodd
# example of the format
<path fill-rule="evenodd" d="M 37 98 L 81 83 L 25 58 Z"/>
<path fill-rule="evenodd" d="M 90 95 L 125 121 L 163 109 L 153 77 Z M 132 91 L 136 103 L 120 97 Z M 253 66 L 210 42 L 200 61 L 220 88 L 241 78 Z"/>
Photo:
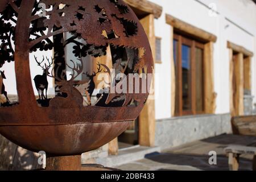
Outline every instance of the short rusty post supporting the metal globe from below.
<path fill-rule="evenodd" d="M 81 171 L 81 155 L 48 157 L 47 171 Z"/>

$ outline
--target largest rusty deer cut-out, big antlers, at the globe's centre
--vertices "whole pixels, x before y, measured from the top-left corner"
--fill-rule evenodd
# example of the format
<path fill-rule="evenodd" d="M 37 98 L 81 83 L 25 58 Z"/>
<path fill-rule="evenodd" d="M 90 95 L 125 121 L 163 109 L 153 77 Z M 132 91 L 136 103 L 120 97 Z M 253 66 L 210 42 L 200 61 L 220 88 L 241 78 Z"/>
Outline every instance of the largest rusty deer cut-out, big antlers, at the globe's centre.
<path fill-rule="evenodd" d="M 84 98 L 82 98 L 81 93 L 79 90 L 77 90 L 73 85 L 77 84 L 77 81 L 75 79 L 81 75 L 83 72 L 83 64 L 82 60 L 78 59 L 80 63 L 75 63 L 73 60 L 71 62 L 73 63 L 73 67 L 70 67 L 67 64 L 67 67 L 72 69 L 72 74 L 71 74 L 71 79 L 70 80 L 65 80 L 64 75 L 61 76 L 61 78 L 53 76 L 54 73 L 52 71 L 51 75 L 48 75 L 49 77 L 55 78 L 59 83 L 60 92 L 67 93 L 68 97 L 55 97 L 50 101 L 50 106 L 52 107 L 81 107 Z M 56 69 L 58 71 L 59 67 Z"/>

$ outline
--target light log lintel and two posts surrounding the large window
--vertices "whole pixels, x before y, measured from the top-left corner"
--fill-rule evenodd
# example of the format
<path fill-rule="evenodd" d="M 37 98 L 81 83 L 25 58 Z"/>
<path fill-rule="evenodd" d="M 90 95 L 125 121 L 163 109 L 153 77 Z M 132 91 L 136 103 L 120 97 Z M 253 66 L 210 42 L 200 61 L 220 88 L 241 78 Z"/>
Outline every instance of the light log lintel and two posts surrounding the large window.
<path fill-rule="evenodd" d="M 214 92 L 214 69 L 213 69 L 213 46 L 217 41 L 217 36 L 186 23 L 170 14 L 166 14 L 166 23 L 171 27 L 171 41 L 173 41 L 174 32 L 180 32 L 189 37 L 195 38 L 204 43 L 204 114 L 214 114 L 216 111 L 216 97 Z M 174 69 L 173 44 L 171 44 L 171 115 L 175 115 L 175 97 L 176 97 L 176 77 Z"/>

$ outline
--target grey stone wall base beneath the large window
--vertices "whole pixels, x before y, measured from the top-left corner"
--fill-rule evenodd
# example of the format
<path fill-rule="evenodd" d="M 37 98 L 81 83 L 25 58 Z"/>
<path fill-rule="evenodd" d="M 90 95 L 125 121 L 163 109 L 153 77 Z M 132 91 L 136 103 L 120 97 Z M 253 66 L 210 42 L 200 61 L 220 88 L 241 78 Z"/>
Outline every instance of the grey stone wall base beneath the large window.
<path fill-rule="evenodd" d="M 232 133 L 230 114 L 195 115 L 156 121 L 155 146 L 162 149 Z"/>

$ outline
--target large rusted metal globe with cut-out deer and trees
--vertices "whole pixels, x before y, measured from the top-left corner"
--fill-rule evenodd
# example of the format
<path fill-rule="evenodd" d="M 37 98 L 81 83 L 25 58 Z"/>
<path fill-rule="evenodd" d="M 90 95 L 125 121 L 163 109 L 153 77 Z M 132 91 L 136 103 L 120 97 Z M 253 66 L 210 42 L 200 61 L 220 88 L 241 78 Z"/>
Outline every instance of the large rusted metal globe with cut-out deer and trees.
<path fill-rule="evenodd" d="M 1 0 L 0 24 L 0 133 L 7 139 L 52 156 L 80 155 L 110 142 L 138 117 L 148 89 L 135 92 L 131 82 L 142 84 L 146 77 L 148 88 L 152 54 L 123 1 Z M 47 56 L 49 51 L 54 54 Z M 10 80 L 3 70 L 12 61 L 16 101 L 6 91 Z M 40 68 L 36 75 L 33 64 Z M 101 74 L 109 82 L 99 89 Z M 118 74 L 123 76 L 112 79 Z M 130 92 L 110 92 L 125 87 Z"/>

